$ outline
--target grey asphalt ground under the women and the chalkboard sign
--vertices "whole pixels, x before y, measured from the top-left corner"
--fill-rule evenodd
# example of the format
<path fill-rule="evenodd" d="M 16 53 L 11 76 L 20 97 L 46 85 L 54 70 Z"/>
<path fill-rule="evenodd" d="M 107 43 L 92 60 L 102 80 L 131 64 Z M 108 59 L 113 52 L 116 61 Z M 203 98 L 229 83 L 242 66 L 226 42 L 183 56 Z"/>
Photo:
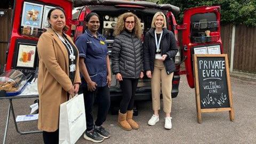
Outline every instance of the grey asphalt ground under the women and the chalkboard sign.
<path fill-rule="evenodd" d="M 164 129 L 164 113 L 155 126 L 147 125 L 151 117 L 151 101 L 139 102 L 139 115 L 134 116 L 138 130 L 124 131 L 117 125 L 117 115 L 108 115 L 103 126 L 111 137 L 102 143 L 256 143 L 256 81 L 231 77 L 235 121 L 228 112 L 204 113 L 202 124 L 197 123 L 195 91 L 181 76 L 179 95 L 172 99 L 172 129 Z M 29 114 L 35 99 L 13 100 L 15 115 Z M 162 103 L 161 103 L 162 104 Z M 7 100 L 0 100 L 0 142 L 6 123 Z M 96 109 L 96 107 L 95 107 Z M 37 121 L 18 124 L 21 131 L 36 130 Z M 20 135 L 15 131 L 11 115 L 6 143 L 43 143 L 42 133 Z M 81 137 L 77 143 L 92 143 Z"/>

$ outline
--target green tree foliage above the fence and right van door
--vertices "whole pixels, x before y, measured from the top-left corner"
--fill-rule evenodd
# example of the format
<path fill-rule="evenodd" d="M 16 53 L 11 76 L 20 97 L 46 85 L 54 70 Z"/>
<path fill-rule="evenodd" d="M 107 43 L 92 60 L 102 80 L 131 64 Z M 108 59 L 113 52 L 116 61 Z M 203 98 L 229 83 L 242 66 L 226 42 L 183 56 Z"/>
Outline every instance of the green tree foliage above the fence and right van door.
<path fill-rule="evenodd" d="M 155 0 L 148 0 L 157 2 Z M 161 4 L 180 7 L 180 14 L 175 15 L 178 23 L 183 21 L 183 11 L 191 7 L 220 5 L 221 23 L 244 24 L 256 27 L 256 0 L 158 0 Z"/>

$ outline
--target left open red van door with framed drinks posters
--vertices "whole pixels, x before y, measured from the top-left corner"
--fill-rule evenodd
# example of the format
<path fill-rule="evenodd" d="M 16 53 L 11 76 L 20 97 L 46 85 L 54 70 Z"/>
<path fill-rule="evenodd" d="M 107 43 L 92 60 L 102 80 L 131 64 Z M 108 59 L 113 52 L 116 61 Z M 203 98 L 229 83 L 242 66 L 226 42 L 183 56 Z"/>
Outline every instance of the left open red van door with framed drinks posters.
<path fill-rule="evenodd" d="M 16 0 L 14 1 L 12 34 L 6 69 L 18 69 L 23 74 L 35 74 L 38 67 L 37 41 L 48 26 L 47 13 L 53 7 L 62 7 L 66 25 L 71 27 L 72 1 L 70 0 Z M 70 35 L 71 30 L 67 31 Z"/>

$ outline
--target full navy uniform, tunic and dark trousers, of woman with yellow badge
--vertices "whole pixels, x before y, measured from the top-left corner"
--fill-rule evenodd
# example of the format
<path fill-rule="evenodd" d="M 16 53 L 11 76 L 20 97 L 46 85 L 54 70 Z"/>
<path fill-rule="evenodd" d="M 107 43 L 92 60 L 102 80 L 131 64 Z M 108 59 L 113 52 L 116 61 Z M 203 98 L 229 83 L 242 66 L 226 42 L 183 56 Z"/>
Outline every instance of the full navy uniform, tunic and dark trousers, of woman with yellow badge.
<path fill-rule="evenodd" d="M 93 129 L 92 107 L 94 96 L 98 100 L 98 115 L 95 125 L 100 126 L 105 122 L 110 106 L 109 87 L 107 85 L 107 55 L 108 49 L 105 38 L 97 33 L 94 37 L 88 29 L 85 33 L 76 39 L 76 46 L 79 51 L 79 57 L 84 58 L 87 71 L 93 82 L 97 83 L 97 89 L 93 92 L 87 91 L 85 78 L 81 75 L 82 86 L 85 99 L 85 113 L 87 131 Z"/>

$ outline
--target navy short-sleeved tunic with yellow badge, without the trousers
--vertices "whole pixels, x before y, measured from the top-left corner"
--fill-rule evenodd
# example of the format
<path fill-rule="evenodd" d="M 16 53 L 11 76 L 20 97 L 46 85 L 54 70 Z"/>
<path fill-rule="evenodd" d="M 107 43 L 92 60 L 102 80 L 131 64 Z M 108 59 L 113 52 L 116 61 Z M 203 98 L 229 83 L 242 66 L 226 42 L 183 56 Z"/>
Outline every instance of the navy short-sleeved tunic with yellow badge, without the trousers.
<path fill-rule="evenodd" d="M 108 54 L 105 38 L 98 34 L 98 38 L 94 37 L 88 29 L 85 33 L 79 36 L 76 40 L 76 46 L 79 51 L 79 57 L 85 59 L 87 71 L 93 82 L 97 83 L 98 87 L 107 85 L 107 63 L 106 57 Z M 83 77 L 81 75 L 81 77 Z M 84 78 L 82 83 L 85 82 Z"/>

